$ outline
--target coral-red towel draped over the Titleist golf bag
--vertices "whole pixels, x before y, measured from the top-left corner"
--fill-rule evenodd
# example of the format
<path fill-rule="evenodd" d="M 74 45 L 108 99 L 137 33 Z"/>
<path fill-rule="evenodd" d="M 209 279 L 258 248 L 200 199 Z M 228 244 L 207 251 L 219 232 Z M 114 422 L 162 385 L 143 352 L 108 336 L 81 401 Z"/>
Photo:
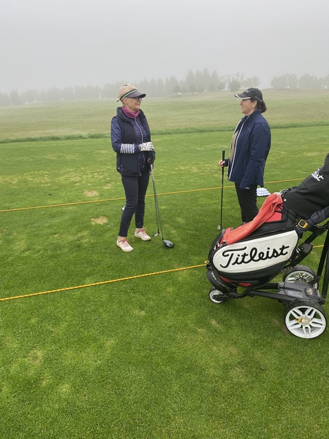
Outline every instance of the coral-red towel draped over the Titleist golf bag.
<path fill-rule="evenodd" d="M 271 218 L 280 204 L 282 205 L 280 193 L 272 193 L 269 195 L 252 221 L 247 222 L 238 228 L 234 228 L 225 234 L 224 241 L 226 241 L 226 244 L 233 244 L 234 242 L 239 241 L 239 239 L 243 239 L 250 235 L 250 233 L 254 232 L 256 228 Z"/>

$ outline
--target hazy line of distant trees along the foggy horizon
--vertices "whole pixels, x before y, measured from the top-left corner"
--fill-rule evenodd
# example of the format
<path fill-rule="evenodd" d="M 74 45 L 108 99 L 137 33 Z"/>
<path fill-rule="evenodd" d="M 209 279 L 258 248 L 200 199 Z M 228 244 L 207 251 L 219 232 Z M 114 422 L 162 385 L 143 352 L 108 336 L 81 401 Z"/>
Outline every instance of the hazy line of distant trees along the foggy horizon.
<path fill-rule="evenodd" d="M 36 104 L 38 102 L 54 102 L 59 100 L 72 99 L 103 99 L 117 97 L 117 92 L 124 82 L 115 82 L 114 84 L 105 84 L 100 86 L 70 86 L 58 88 L 56 86 L 48 90 L 38 91 L 31 89 L 19 93 L 12 90 L 10 93 L 0 92 L 0 106 Z M 160 97 L 172 94 L 186 93 L 204 93 L 205 91 L 223 91 L 228 90 L 233 93 L 241 88 L 258 87 L 260 79 L 257 76 L 245 78 L 243 74 L 219 75 L 217 71 L 210 73 L 208 69 L 193 72 L 189 70 L 184 80 L 178 80 L 175 76 L 163 80 L 143 80 L 134 82 L 139 90 L 145 91 L 149 97 Z M 276 89 L 297 89 L 297 88 L 329 88 L 329 75 L 326 78 L 316 78 L 313 75 L 303 75 L 297 78 L 297 75 L 283 75 L 271 80 L 271 86 Z"/>

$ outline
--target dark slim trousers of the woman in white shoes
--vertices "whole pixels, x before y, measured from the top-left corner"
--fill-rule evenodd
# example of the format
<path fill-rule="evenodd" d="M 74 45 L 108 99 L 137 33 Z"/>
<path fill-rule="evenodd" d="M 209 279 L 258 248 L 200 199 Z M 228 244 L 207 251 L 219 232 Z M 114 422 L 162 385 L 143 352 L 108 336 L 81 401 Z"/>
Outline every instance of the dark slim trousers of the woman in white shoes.
<path fill-rule="evenodd" d="M 125 210 L 121 215 L 119 236 L 127 237 L 134 214 L 136 228 L 143 228 L 149 170 L 141 171 L 141 176 L 121 176 L 121 181 L 125 189 Z"/>

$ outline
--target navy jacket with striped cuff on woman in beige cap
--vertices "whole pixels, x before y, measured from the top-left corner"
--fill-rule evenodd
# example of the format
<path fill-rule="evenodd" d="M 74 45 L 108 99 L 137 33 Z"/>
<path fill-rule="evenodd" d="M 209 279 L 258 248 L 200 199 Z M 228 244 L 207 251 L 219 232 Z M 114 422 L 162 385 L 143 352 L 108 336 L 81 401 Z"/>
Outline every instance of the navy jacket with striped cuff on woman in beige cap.
<path fill-rule="evenodd" d="M 149 169 L 147 152 L 141 152 L 141 143 L 151 141 L 149 124 L 142 110 L 136 119 L 127 117 L 122 107 L 117 108 L 117 116 L 111 121 L 112 147 L 117 152 L 117 171 L 123 176 L 141 175 Z"/>

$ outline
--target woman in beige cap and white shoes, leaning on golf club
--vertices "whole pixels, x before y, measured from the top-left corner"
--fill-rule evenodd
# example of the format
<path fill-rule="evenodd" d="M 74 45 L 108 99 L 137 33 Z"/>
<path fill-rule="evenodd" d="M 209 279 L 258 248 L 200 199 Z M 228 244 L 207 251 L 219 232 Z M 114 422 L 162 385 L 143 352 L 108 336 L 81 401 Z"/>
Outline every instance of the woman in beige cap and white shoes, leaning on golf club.
<path fill-rule="evenodd" d="M 117 115 L 111 121 L 112 147 L 117 152 L 117 171 L 125 189 L 125 208 L 117 237 L 117 246 L 123 252 L 134 250 L 127 240 L 133 215 L 136 223 L 134 236 L 142 241 L 151 239 L 144 228 L 145 194 L 156 153 L 147 119 L 140 108 L 145 96 L 132 84 L 121 86 L 118 102 L 121 101 L 122 106 L 117 108 Z"/>

